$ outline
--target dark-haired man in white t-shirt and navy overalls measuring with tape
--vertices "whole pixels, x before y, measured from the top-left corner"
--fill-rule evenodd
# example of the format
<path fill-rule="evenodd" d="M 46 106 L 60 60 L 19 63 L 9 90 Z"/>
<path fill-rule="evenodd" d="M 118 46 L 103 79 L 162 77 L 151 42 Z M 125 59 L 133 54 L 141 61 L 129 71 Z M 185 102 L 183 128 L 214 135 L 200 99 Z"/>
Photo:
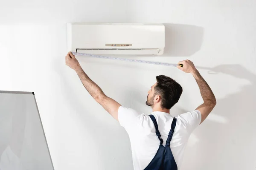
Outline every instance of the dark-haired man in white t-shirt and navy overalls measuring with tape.
<path fill-rule="evenodd" d="M 183 64 L 183 67 L 177 68 L 195 77 L 204 103 L 195 111 L 177 117 L 171 116 L 170 108 L 180 99 L 182 87 L 174 79 L 160 75 L 148 91 L 146 105 L 151 106 L 153 112 L 147 116 L 134 109 L 125 108 L 106 96 L 84 73 L 75 56 L 71 52 L 66 56 L 66 65 L 76 71 L 90 95 L 127 131 L 131 141 L 134 170 L 179 169 L 190 134 L 216 105 L 212 90 L 193 62 L 185 60 L 179 64 Z"/>

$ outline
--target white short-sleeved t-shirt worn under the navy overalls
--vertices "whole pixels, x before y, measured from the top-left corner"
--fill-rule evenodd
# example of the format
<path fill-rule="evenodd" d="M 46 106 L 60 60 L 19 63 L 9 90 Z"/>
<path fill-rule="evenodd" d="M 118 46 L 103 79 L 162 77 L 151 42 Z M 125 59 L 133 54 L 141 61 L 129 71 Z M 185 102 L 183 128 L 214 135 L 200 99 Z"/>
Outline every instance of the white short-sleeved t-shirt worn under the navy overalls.
<path fill-rule="evenodd" d="M 165 146 L 173 116 L 160 111 L 154 111 L 151 114 L 156 118 L 163 146 Z M 170 147 L 179 169 L 189 136 L 201 122 L 201 113 L 196 110 L 180 114 L 175 118 L 177 123 Z M 130 138 L 134 170 L 145 169 L 154 158 L 160 145 L 153 121 L 148 115 L 140 114 L 134 109 L 123 106 L 118 109 L 118 120 Z"/>

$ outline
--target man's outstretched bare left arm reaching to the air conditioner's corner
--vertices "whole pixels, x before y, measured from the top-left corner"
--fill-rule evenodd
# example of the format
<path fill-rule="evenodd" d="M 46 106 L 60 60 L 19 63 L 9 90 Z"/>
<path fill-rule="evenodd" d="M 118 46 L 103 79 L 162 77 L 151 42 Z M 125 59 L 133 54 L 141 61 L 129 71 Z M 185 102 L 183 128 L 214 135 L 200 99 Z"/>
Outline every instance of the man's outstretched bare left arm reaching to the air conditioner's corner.
<path fill-rule="evenodd" d="M 118 121 L 117 111 L 121 105 L 115 100 L 106 96 L 103 93 L 102 89 L 99 88 L 99 86 L 96 85 L 96 83 L 93 82 L 93 80 L 91 80 L 87 76 L 87 74 L 85 74 L 78 60 L 71 52 L 67 54 L 67 56 L 65 57 L 65 60 L 66 60 L 66 65 L 76 71 L 84 87 L 89 92 L 89 94 L 93 97 L 93 99 L 95 99 L 96 102 L 102 105 L 102 107 L 106 111 L 108 111 L 108 113 L 110 113 L 111 116 L 113 116 L 113 118 L 115 118 Z"/>

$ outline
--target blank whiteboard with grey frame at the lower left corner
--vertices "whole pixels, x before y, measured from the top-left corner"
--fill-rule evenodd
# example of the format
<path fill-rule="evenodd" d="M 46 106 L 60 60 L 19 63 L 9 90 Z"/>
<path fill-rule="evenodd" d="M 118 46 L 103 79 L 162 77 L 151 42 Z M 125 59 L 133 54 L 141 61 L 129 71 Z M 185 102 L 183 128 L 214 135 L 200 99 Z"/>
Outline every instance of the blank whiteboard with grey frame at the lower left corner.
<path fill-rule="evenodd" d="M 0 170 L 54 170 L 33 92 L 0 91 Z"/>

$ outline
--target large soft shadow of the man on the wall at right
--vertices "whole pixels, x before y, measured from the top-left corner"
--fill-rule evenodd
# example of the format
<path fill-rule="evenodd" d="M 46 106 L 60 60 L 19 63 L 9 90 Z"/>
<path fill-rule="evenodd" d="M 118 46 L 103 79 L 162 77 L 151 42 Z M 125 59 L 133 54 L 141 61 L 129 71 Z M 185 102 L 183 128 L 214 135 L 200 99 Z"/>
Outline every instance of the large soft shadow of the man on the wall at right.
<path fill-rule="evenodd" d="M 217 99 L 216 107 L 202 124 L 204 128 L 195 131 L 194 135 L 200 140 L 188 149 L 182 169 L 255 168 L 256 75 L 241 65 L 198 68 L 209 70 L 209 74 L 228 74 L 237 77 L 238 81 L 246 79 L 249 83 L 242 86 L 239 92 Z M 232 84 L 223 83 L 223 88 L 228 89 L 230 86 Z M 186 162 L 197 163 L 186 164 Z"/>

